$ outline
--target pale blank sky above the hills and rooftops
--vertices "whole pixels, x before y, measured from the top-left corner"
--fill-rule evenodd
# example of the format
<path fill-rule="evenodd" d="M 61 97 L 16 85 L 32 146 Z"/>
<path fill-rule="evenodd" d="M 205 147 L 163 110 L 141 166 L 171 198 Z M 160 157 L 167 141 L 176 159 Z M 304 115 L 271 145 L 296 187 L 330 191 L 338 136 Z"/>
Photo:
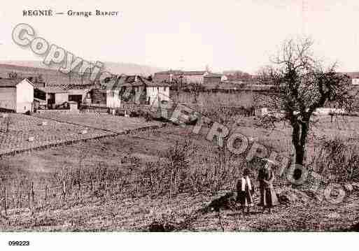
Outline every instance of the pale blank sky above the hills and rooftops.
<path fill-rule="evenodd" d="M 254 73 L 286 38 L 310 35 L 318 56 L 359 71 L 358 0 L 7 1 L 0 60 L 41 60 L 11 40 L 16 24 L 76 56 L 165 69 Z M 20 2 L 20 1 L 17 1 Z M 118 10 L 118 17 L 22 17 L 22 10 Z M 304 10 L 304 12 L 303 12 Z"/>

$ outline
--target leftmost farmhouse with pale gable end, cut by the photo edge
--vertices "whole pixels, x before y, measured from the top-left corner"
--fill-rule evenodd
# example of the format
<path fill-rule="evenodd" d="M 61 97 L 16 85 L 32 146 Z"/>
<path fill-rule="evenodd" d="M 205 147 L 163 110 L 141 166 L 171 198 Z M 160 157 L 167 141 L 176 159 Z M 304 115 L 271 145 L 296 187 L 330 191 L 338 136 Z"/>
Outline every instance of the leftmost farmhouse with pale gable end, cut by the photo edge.
<path fill-rule="evenodd" d="M 0 78 L 0 108 L 15 113 L 32 110 L 34 102 L 34 85 L 24 78 Z"/>

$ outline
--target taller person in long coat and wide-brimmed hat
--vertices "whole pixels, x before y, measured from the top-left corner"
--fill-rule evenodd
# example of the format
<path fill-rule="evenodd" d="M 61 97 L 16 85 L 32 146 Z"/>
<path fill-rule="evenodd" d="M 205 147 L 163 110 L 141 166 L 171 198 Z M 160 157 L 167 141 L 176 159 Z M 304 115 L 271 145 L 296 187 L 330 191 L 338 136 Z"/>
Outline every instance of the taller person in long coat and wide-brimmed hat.
<path fill-rule="evenodd" d="M 260 206 L 263 207 L 263 213 L 268 208 L 272 213 L 272 208 L 279 204 L 276 192 L 273 187 L 274 173 L 267 165 L 260 168 L 258 172 L 258 181 L 260 183 Z"/>

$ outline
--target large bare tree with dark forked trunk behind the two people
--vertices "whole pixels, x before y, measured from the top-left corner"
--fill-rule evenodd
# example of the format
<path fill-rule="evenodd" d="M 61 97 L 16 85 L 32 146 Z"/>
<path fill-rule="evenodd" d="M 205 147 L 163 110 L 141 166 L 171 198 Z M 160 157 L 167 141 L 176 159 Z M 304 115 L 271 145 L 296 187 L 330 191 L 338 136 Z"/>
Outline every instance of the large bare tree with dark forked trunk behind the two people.
<path fill-rule="evenodd" d="M 336 72 L 337 63 L 328 68 L 315 59 L 310 38 L 285 41 L 272 66 L 262 69 L 259 80 L 273 85 L 262 100 L 269 108 L 283 110 L 283 120 L 293 128 L 295 164 L 304 164 L 309 125 L 314 111 L 327 103 L 351 109 L 353 93 L 349 77 Z"/>

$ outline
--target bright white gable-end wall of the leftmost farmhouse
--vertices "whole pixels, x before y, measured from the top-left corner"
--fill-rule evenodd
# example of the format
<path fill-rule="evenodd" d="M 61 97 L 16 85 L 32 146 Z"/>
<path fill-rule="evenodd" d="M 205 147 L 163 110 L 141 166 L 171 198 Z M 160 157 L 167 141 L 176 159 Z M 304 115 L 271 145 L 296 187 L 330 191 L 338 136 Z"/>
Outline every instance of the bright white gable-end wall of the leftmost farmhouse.
<path fill-rule="evenodd" d="M 33 102 L 34 86 L 24 79 L 16 85 L 16 113 L 31 111 Z"/>

